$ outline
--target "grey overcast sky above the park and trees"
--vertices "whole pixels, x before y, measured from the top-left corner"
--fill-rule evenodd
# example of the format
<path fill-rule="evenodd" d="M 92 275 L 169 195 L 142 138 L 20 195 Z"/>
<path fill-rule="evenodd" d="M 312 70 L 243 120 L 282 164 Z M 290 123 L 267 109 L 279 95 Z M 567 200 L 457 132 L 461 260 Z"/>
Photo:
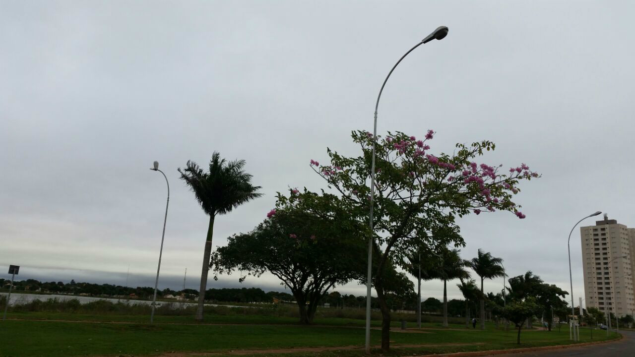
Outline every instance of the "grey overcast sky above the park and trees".
<path fill-rule="evenodd" d="M 511 276 L 568 290 L 566 238 L 596 210 L 635 226 L 635 8 L 627 1 L 0 1 L 0 267 L 20 278 L 152 285 L 200 277 L 208 219 L 178 179 L 213 151 L 245 159 L 263 198 L 219 217 L 214 245 L 261 222 L 276 191 L 319 189 L 309 160 L 358 154 L 385 75 L 378 131 L 492 140 L 526 163 L 511 213 L 459 223 Z M 592 220 L 587 220 L 587 225 Z M 572 237 L 580 296 L 580 235 Z M 1 275 L 0 275 L 1 276 Z M 5 276 L 3 276 L 6 278 Z M 237 276 L 210 287 L 237 286 Z M 281 290 L 272 277 L 243 286 Z M 460 293 L 451 283 L 450 297 Z M 486 283 L 500 291 L 502 281 Z M 363 295 L 356 283 L 340 292 Z M 439 282 L 424 298 L 441 297 Z"/>

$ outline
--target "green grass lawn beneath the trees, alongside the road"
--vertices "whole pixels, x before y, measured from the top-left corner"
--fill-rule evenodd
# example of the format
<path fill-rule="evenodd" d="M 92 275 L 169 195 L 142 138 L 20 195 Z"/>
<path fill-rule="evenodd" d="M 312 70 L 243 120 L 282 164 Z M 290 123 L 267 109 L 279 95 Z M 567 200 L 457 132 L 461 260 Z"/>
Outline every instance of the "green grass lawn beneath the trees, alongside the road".
<path fill-rule="evenodd" d="M 25 313 L 36 316 L 43 313 Z M 17 317 L 17 313 L 10 317 Z M 61 316 L 61 315 L 60 315 Z M 103 317 L 103 316 L 102 316 Z M 106 315 L 107 318 L 112 316 Z M 130 317 L 130 316 L 128 316 Z M 137 316 L 133 316 L 137 318 Z M 139 316 L 145 317 L 145 316 Z M 161 319 L 170 316 L 159 316 Z M 183 318 L 184 316 L 173 316 Z M 185 316 L 189 318 L 189 316 Z M 236 320 L 237 316 L 226 316 Z M 260 316 L 246 316 L 250 319 Z M 218 318 L 218 316 L 211 316 Z M 265 318 L 262 316 L 262 318 Z M 276 319 L 276 318 L 269 318 Z M 67 319 L 68 320 L 68 319 Z M 110 319 L 112 320 L 112 319 Z M 159 319 L 157 319 L 159 320 Z M 344 320 L 344 319 L 333 319 Z M 160 321 L 160 320 L 159 320 Z M 190 320 L 191 321 L 191 320 Z M 258 323 L 251 320 L 252 323 Z M 163 321 L 166 322 L 166 321 Z M 234 321 L 227 321 L 234 322 Z M 320 321 L 316 321 L 320 323 Z M 340 321 L 341 322 L 341 321 Z M 360 325 L 363 321 L 356 321 Z M 516 332 L 509 330 L 424 330 L 426 333 L 392 332 L 392 355 L 481 351 L 516 347 L 569 344 L 566 327 L 561 332 L 526 330 L 521 334 L 521 346 L 516 345 Z M 581 342 L 590 341 L 590 331 L 580 329 Z M 595 330 L 594 340 L 607 339 L 606 332 Z M 616 337 L 612 333 L 612 338 Z M 372 343 L 380 343 L 380 331 L 371 333 Z M 0 321 L 0 356 L 152 356 L 172 351 L 223 352 L 249 349 L 290 349 L 298 347 L 363 346 L 364 330 L 358 327 L 300 325 L 169 325 L 147 323 L 88 323 L 62 321 Z M 445 345 L 444 345 L 445 344 Z M 465 344 L 465 345 L 460 345 Z M 399 346 L 401 345 L 401 346 Z M 255 354 L 251 351 L 251 354 Z M 258 354 L 274 356 L 280 351 Z M 297 355 L 297 353 L 294 353 Z M 291 356 L 287 354 L 288 356 Z M 363 349 L 340 351 L 305 351 L 302 355 L 363 356 Z"/>

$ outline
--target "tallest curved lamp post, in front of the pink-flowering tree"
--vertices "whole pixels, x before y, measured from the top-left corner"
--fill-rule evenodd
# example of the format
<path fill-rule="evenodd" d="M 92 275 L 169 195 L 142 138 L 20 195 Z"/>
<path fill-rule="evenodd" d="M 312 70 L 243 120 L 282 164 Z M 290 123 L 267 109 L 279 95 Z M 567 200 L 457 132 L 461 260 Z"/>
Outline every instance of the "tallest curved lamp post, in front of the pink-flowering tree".
<path fill-rule="evenodd" d="M 382 91 L 384 91 L 384 86 L 388 81 L 388 78 L 391 76 L 392 71 L 395 70 L 397 65 L 406 57 L 410 52 L 415 50 L 418 46 L 421 46 L 424 43 L 429 43 L 433 39 L 443 39 L 448 34 L 448 27 L 439 26 L 436 30 L 434 30 L 427 37 L 422 39 L 420 43 L 415 44 L 413 48 L 408 50 L 405 55 L 401 56 L 397 63 L 392 66 L 390 72 L 388 72 L 388 76 L 384 79 L 384 83 L 382 84 L 382 88 L 379 90 L 379 94 L 377 95 L 377 102 L 375 103 L 375 122 L 373 125 L 373 152 L 371 158 L 371 171 L 370 171 L 370 212 L 368 214 L 368 226 L 370 227 L 370 236 L 368 237 L 368 269 L 366 271 L 366 354 L 370 354 L 370 298 L 371 298 L 371 274 L 372 274 L 372 260 L 373 260 L 373 199 L 375 198 L 375 145 L 377 144 L 377 109 L 379 108 L 379 99 L 382 97 Z"/>

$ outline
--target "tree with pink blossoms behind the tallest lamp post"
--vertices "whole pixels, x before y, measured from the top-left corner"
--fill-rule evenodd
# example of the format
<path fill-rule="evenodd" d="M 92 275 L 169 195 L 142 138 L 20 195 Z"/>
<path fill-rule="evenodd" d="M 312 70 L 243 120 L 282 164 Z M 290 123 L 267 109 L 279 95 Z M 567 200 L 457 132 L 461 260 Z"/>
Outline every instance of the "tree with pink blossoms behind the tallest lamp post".
<path fill-rule="evenodd" d="M 391 323 L 382 281 L 387 264 L 403 262 L 422 245 L 432 251 L 463 246 L 457 217 L 507 211 L 524 219 L 514 195 L 521 180 L 539 177 L 525 164 L 508 171 L 502 165 L 478 163 L 476 158 L 495 149 L 490 141 L 457 144 L 451 155 L 432 154 L 429 142 L 434 135 L 429 130 L 422 140 L 401 132 L 377 137 L 372 239 L 378 261 L 373 262 L 373 285 L 382 311 L 384 351 L 389 350 Z M 337 192 L 338 200 L 333 202 L 345 206 L 360 224 L 368 224 L 373 135 L 354 131 L 352 139 L 360 145 L 361 156 L 349 158 L 328 149 L 330 165 L 315 160 L 310 165 Z"/>

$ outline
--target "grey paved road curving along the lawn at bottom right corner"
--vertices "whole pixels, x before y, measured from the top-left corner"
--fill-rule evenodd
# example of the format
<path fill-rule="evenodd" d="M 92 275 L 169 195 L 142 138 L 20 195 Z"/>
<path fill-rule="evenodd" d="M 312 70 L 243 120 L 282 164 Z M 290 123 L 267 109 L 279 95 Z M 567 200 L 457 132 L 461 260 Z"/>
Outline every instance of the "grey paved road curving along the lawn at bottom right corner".
<path fill-rule="evenodd" d="M 498 354 L 497 357 L 630 357 L 635 356 L 635 332 L 621 331 L 624 339 L 591 346 L 554 349 L 552 351 L 538 351 L 526 353 Z"/>

